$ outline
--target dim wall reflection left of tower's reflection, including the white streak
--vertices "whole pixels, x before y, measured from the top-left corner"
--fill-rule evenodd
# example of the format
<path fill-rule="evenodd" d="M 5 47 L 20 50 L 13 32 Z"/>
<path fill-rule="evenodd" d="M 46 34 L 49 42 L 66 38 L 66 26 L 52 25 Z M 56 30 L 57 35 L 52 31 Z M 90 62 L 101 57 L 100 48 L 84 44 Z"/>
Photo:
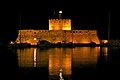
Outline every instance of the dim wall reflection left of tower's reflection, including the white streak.
<path fill-rule="evenodd" d="M 18 49 L 19 67 L 47 67 L 48 54 L 37 48 Z"/>

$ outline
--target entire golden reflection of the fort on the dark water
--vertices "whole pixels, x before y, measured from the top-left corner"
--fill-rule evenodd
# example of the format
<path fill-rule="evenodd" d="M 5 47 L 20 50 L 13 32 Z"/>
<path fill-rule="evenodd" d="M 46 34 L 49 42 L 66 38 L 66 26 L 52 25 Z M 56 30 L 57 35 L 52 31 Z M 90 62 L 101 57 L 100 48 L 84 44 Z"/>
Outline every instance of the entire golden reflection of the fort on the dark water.
<path fill-rule="evenodd" d="M 75 47 L 46 50 L 26 48 L 17 49 L 17 55 L 19 67 L 21 68 L 47 68 L 49 79 L 71 80 L 73 78 L 75 80 L 75 78 L 77 79 L 84 74 L 83 68 L 96 68 L 98 63 L 101 63 L 103 56 L 104 61 L 106 61 L 108 48 Z M 61 69 L 62 72 L 60 72 Z M 85 75 L 87 73 L 89 72 L 85 72 Z"/>

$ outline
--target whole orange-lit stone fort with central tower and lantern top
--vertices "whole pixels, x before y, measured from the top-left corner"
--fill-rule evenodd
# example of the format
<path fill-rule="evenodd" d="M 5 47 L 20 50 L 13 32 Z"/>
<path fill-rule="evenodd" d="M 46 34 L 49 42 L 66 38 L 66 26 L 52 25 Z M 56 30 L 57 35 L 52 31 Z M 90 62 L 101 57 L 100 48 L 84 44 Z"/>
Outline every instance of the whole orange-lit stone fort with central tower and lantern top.
<path fill-rule="evenodd" d="M 62 19 L 62 11 L 59 11 L 58 19 L 49 19 L 49 30 L 19 30 L 16 43 L 30 43 L 46 40 L 50 43 L 81 43 L 95 42 L 100 44 L 97 30 L 71 30 L 71 19 Z"/>

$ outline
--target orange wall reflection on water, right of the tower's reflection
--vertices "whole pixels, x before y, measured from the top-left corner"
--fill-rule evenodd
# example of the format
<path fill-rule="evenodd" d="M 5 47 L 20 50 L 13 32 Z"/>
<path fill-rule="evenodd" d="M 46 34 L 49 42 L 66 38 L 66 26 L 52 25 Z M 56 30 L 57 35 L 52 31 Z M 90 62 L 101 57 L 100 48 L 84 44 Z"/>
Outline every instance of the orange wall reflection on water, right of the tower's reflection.
<path fill-rule="evenodd" d="M 73 66 L 95 66 L 100 47 L 76 47 L 73 49 Z"/>

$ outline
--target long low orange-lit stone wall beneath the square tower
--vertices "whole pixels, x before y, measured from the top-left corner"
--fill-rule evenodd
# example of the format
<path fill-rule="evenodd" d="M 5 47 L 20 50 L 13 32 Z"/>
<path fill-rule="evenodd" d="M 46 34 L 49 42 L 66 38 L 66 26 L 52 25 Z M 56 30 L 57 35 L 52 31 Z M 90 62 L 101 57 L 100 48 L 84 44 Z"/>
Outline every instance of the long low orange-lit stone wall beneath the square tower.
<path fill-rule="evenodd" d="M 96 44 L 100 44 L 96 30 L 32 30 L 32 29 L 19 30 L 16 43 L 21 42 L 21 43 L 30 43 L 31 45 L 36 45 L 39 40 L 46 40 L 51 43 L 95 42 Z"/>

